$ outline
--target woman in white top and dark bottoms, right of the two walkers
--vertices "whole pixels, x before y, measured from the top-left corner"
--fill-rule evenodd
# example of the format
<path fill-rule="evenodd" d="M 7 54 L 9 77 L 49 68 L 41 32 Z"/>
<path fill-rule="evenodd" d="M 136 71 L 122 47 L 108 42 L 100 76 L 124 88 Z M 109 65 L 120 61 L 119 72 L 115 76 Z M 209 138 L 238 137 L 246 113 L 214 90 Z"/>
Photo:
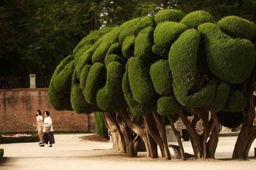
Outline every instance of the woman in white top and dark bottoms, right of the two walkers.
<path fill-rule="evenodd" d="M 45 143 L 48 144 L 49 147 L 53 147 L 54 135 L 53 135 L 53 120 L 49 117 L 49 111 L 44 111 L 45 120 L 43 121 L 43 143 L 39 145 L 40 147 L 45 147 Z M 49 132 L 47 129 L 50 129 Z"/>

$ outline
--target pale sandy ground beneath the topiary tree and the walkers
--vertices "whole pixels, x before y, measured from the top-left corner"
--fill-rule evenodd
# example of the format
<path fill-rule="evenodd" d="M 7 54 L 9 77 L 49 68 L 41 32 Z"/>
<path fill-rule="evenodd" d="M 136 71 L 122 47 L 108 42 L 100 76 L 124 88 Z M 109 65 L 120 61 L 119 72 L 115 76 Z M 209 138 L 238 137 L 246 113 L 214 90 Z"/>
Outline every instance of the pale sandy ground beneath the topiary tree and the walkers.
<path fill-rule="evenodd" d="M 1 144 L 5 161 L 0 164 L 0 169 L 256 169 L 256 158 L 253 157 L 256 141 L 250 149 L 249 160 L 227 160 L 232 156 L 236 137 L 220 137 L 216 159 L 182 161 L 176 159 L 170 149 L 173 159 L 169 161 L 145 158 L 144 152 L 137 158 L 127 158 L 125 154 L 111 150 L 111 143 L 85 142 L 79 138 L 82 135 L 55 135 L 56 144 L 52 148 L 48 145 L 38 147 L 37 143 Z M 192 153 L 190 142 L 184 142 L 184 149 Z"/>

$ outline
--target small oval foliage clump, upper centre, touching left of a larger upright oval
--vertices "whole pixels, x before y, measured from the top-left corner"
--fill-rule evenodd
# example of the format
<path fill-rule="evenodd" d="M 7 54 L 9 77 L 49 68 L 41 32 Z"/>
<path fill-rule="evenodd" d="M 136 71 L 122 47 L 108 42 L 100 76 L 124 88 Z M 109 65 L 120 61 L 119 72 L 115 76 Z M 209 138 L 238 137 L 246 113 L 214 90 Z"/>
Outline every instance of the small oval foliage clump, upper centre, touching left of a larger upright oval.
<path fill-rule="evenodd" d="M 129 59 L 130 57 L 134 56 L 134 41 L 135 36 L 127 36 L 124 39 L 124 43 L 122 43 L 122 54 Z"/>

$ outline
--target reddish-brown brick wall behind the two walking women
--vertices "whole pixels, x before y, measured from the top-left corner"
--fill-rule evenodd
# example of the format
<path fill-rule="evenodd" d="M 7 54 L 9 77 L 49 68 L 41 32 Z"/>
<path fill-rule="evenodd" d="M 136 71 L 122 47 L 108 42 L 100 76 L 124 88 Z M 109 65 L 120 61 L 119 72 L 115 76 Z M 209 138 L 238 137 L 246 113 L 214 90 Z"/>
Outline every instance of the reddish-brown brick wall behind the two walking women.
<path fill-rule="evenodd" d="M 47 99 L 48 88 L 0 90 L 0 134 L 35 132 L 36 109 L 48 110 L 55 132 L 95 132 L 90 114 L 56 111 Z"/>

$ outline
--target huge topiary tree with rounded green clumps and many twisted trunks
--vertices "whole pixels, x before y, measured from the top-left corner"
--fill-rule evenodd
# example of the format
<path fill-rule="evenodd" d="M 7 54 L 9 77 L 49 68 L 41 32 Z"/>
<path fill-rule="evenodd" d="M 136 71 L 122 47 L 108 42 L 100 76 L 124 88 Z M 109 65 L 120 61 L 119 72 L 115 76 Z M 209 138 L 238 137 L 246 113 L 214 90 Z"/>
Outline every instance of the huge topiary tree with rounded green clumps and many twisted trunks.
<path fill-rule="evenodd" d="M 219 122 L 230 127 L 242 122 L 233 158 L 246 158 L 256 137 L 255 30 L 254 23 L 239 17 L 215 23 L 205 11 L 184 15 L 168 9 L 93 32 L 74 49 L 75 57 L 56 68 L 49 101 L 59 109 L 71 103 L 78 113 L 103 112 L 113 148 L 128 156 L 137 155 L 142 139 L 148 157 L 158 158 L 158 145 L 161 156 L 171 159 L 169 120 L 186 159 L 174 127 L 181 117 L 195 158 L 214 158 Z M 195 130 L 200 120 L 202 134 Z"/>

